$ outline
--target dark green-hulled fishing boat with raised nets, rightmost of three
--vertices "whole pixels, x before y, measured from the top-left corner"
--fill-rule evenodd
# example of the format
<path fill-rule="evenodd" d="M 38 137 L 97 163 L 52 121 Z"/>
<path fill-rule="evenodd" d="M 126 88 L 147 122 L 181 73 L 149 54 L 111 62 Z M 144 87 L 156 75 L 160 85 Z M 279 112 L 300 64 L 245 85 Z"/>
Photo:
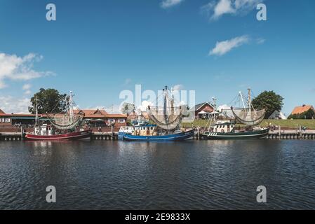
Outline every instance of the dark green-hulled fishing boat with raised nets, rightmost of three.
<path fill-rule="evenodd" d="M 201 132 L 203 139 L 220 140 L 220 139 L 264 139 L 269 133 L 269 128 L 258 127 L 266 111 L 264 109 L 256 111 L 251 104 L 250 89 L 248 89 L 248 106 L 243 99 L 243 94 L 239 92 L 243 108 L 231 107 L 234 119 L 218 120 L 221 113 L 216 111 L 215 98 L 213 97 L 214 111 L 210 114 L 208 130 Z M 245 127 L 236 130 L 236 124 L 241 123 Z"/>

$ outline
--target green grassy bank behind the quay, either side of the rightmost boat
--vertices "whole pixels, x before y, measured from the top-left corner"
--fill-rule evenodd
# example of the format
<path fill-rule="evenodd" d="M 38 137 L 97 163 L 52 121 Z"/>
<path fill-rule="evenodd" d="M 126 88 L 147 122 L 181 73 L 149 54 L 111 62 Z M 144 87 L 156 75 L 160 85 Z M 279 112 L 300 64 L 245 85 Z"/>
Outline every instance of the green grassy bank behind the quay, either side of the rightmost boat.
<path fill-rule="evenodd" d="M 208 120 L 195 120 L 194 123 L 182 123 L 182 127 L 206 127 Z M 296 129 L 300 125 L 309 129 L 315 129 L 315 120 L 263 120 L 261 127 L 267 127 L 269 124 Z"/>

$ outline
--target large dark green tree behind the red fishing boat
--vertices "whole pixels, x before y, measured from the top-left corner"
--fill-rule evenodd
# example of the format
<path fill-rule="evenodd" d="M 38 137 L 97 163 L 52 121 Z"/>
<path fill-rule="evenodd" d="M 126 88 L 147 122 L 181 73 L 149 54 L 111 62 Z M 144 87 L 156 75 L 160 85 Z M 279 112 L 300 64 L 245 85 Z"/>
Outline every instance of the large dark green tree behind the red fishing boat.
<path fill-rule="evenodd" d="M 36 113 L 36 99 L 39 113 L 60 113 L 65 111 L 67 94 L 60 94 L 55 89 L 43 89 L 34 94 L 31 98 L 32 106 L 29 106 L 29 113 Z"/>

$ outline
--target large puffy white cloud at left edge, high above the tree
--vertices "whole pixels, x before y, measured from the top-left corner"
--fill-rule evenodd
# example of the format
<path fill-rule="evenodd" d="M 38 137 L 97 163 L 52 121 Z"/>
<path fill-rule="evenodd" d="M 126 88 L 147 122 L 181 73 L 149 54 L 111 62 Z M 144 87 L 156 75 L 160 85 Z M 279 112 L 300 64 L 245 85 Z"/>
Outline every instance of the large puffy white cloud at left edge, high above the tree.
<path fill-rule="evenodd" d="M 24 57 L 0 53 L 0 89 L 6 87 L 4 80 L 31 80 L 53 74 L 51 71 L 35 71 L 34 62 L 43 59 L 41 55 L 29 53 Z"/>

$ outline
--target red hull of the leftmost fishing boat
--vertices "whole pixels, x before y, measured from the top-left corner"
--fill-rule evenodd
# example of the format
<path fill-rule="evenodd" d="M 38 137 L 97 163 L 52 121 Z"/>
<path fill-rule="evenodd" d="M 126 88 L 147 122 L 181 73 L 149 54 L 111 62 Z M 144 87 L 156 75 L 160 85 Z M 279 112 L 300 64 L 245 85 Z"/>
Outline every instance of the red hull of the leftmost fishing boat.
<path fill-rule="evenodd" d="M 92 134 L 92 131 L 87 130 L 87 131 L 82 131 L 82 132 L 71 132 L 67 134 L 55 134 L 55 135 L 26 134 L 25 138 L 27 140 L 37 140 L 37 141 L 76 140 L 76 139 L 90 138 L 91 134 Z"/>

